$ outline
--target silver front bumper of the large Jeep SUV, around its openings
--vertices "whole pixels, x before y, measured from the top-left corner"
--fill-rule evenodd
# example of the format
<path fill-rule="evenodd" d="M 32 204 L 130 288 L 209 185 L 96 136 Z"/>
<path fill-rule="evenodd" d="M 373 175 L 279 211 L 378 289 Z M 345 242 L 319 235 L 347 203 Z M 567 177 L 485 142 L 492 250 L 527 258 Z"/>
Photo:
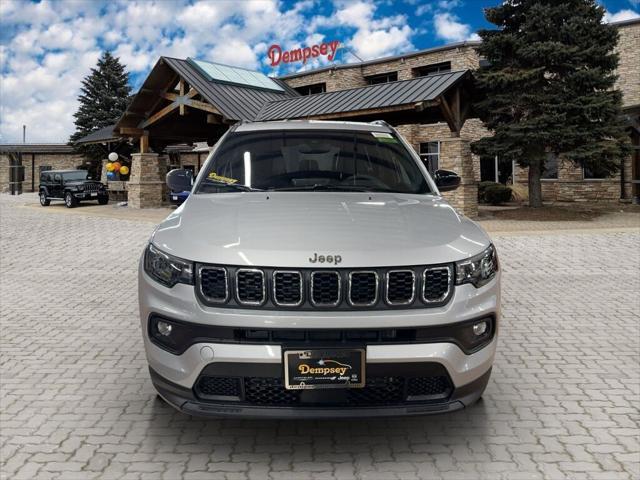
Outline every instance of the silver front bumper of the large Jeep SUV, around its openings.
<path fill-rule="evenodd" d="M 400 328 L 447 325 L 491 315 L 497 327 L 500 316 L 499 276 L 482 288 L 476 289 L 471 285 L 456 287 L 451 301 L 442 307 L 348 313 L 216 309 L 200 304 L 193 287 L 178 284 L 171 289 L 165 288 L 151 280 L 142 269 L 139 290 L 141 327 L 153 384 L 168 403 L 196 416 L 329 418 L 424 415 L 459 410 L 475 402 L 484 391 L 497 345 L 497 334 L 485 347 L 470 354 L 449 342 L 361 345 L 366 349 L 367 379 L 445 375 L 450 388 L 446 395 L 435 400 L 411 401 L 405 398 L 396 403 L 381 401 L 384 405 L 351 405 L 348 399 L 335 400 L 327 394 L 322 401 L 300 397 L 294 404 L 258 405 L 246 401 L 243 396 L 225 401 L 203 399 L 196 386 L 204 374 L 237 377 L 242 385 L 246 385 L 248 378 L 281 380 L 283 350 L 291 348 L 291 345 L 207 341 L 193 344 L 184 353 L 176 355 L 149 339 L 147 322 L 150 315 L 159 314 L 202 325 L 256 329 Z"/>

